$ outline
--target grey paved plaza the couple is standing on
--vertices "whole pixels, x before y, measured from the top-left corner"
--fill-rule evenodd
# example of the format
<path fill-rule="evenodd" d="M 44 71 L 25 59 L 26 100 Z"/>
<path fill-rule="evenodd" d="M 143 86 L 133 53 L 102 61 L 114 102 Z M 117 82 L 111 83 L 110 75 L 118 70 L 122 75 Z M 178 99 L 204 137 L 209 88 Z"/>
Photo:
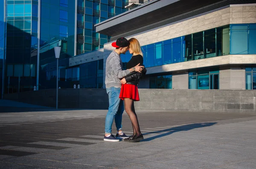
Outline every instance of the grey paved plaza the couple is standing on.
<path fill-rule="evenodd" d="M 0 112 L 0 169 L 256 169 L 256 114 L 138 112 L 145 139 L 128 143 L 103 141 L 107 110 L 0 100 Z"/>

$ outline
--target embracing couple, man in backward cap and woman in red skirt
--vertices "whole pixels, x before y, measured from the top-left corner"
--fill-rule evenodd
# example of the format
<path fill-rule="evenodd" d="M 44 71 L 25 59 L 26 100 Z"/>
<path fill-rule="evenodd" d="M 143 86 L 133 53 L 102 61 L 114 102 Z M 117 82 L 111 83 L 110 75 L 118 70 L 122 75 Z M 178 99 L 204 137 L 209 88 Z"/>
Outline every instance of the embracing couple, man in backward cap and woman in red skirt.
<path fill-rule="evenodd" d="M 106 61 L 105 84 L 108 93 L 109 107 L 105 120 L 105 141 L 138 142 L 143 140 L 140 126 L 134 109 L 134 101 L 139 101 L 138 87 L 140 78 L 146 73 L 143 66 L 143 53 L 137 39 L 130 40 L 120 37 L 112 43 L 116 49 L 111 52 Z M 132 54 L 131 60 L 126 64 L 127 70 L 122 70 L 120 54 L 129 50 Z M 128 137 L 122 132 L 122 113 L 125 111 L 130 117 L 133 135 Z M 116 137 L 112 135 L 113 120 L 116 123 Z"/>

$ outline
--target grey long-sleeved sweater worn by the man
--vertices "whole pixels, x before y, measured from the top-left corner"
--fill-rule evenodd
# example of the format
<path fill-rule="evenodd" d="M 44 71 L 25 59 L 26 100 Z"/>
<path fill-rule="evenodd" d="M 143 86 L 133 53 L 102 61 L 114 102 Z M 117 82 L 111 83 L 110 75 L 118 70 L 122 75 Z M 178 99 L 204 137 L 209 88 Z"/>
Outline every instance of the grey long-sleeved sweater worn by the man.
<path fill-rule="evenodd" d="M 108 87 L 122 86 L 120 80 L 130 73 L 130 70 L 122 70 L 122 60 L 115 51 L 111 52 L 106 61 L 105 84 Z"/>

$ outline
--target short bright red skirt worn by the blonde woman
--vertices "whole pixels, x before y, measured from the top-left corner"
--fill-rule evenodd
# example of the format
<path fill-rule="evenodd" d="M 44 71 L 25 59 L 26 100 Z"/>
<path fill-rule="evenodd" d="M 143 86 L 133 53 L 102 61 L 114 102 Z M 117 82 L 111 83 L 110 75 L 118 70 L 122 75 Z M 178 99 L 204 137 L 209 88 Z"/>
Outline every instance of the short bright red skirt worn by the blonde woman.
<path fill-rule="evenodd" d="M 132 84 L 122 84 L 119 98 L 122 100 L 124 100 L 124 98 L 130 98 L 134 101 L 140 101 L 138 86 Z"/>

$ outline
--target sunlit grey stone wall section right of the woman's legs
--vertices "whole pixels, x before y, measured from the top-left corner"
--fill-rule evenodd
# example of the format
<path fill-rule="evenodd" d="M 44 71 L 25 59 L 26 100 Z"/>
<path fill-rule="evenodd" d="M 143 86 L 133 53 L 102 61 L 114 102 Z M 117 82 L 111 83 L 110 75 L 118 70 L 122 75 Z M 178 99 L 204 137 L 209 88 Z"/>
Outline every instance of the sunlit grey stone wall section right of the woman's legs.
<path fill-rule="evenodd" d="M 256 91 L 139 89 L 143 111 L 256 112 Z"/>

